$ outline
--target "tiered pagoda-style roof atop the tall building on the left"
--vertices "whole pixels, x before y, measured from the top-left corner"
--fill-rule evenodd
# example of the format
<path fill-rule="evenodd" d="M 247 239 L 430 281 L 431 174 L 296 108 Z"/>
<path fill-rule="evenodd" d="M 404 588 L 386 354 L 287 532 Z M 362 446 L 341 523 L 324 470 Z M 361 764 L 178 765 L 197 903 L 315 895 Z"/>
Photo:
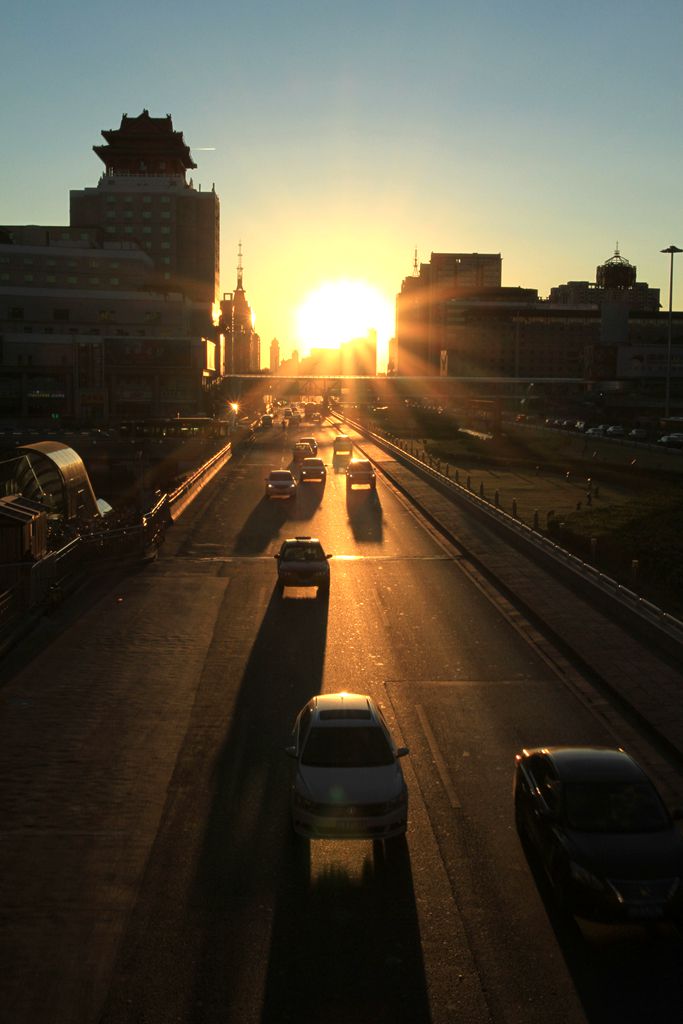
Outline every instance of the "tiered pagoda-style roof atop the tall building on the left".
<path fill-rule="evenodd" d="M 121 127 L 101 132 L 106 145 L 93 145 L 109 174 L 182 174 L 197 167 L 182 132 L 173 130 L 171 115 L 152 118 L 124 114 Z"/>

